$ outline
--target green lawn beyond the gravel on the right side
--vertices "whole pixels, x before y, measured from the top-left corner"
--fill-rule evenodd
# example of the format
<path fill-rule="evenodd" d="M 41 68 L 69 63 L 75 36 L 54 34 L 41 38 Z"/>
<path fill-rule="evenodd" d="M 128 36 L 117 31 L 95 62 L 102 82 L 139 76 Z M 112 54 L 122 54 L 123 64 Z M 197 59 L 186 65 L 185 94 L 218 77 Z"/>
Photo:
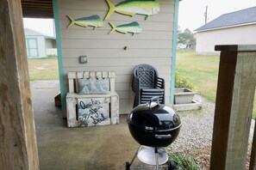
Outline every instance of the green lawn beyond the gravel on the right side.
<path fill-rule="evenodd" d="M 176 58 L 179 75 L 186 76 L 187 80 L 196 86 L 198 94 L 215 102 L 220 55 L 204 56 L 197 55 L 192 50 L 178 50 Z M 254 98 L 256 99 L 256 96 Z M 255 108 L 253 118 L 256 118 Z"/>

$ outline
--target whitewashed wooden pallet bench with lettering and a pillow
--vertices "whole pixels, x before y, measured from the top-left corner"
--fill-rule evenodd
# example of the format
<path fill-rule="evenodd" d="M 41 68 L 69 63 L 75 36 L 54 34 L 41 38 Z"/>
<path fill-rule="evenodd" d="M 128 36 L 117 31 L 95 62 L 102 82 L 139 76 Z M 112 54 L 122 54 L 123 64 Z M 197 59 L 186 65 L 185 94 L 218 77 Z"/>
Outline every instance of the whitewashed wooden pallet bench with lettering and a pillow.
<path fill-rule="evenodd" d="M 68 73 L 69 92 L 66 94 L 68 127 L 119 124 L 119 97 L 115 91 L 115 76 L 113 71 Z M 89 91 L 88 94 L 81 94 L 79 82 L 82 81 L 86 82 L 83 90 Z M 100 81 L 103 82 L 103 86 L 97 86 Z M 91 91 L 91 87 L 95 90 Z"/>

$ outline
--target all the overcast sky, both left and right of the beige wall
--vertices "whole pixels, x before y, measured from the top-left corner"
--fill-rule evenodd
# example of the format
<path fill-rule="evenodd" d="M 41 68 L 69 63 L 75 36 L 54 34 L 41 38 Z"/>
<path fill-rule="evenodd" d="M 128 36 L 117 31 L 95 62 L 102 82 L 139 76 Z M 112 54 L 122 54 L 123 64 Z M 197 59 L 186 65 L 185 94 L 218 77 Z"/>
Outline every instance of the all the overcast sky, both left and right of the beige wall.
<path fill-rule="evenodd" d="M 178 9 L 178 26 L 194 31 L 204 25 L 204 12 L 208 6 L 208 21 L 220 15 L 256 6 L 256 0 L 182 0 Z M 24 27 L 53 36 L 53 20 L 24 19 Z"/>

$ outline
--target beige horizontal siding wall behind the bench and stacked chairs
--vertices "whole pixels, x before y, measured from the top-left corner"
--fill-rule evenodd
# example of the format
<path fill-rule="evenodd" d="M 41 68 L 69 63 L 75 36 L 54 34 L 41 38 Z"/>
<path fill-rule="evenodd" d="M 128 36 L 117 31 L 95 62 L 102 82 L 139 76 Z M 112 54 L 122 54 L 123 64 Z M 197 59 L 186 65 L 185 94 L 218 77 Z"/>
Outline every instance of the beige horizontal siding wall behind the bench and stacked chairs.
<path fill-rule="evenodd" d="M 122 1 L 111 1 L 114 4 Z M 131 111 L 134 93 L 131 81 L 134 66 L 152 64 L 159 76 L 165 78 L 165 101 L 170 103 L 172 70 L 172 30 L 174 0 L 159 0 L 160 13 L 145 21 L 145 15 L 120 15 L 114 13 L 103 27 L 67 28 L 70 21 L 66 15 L 74 18 L 99 15 L 101 18 L 109 10 L 104 0 L 59 0 L 59 29 L 62 46 L 63 71 L 78 70 L 114 70 L 116 72 L 116 92 L 120 97 L 120 112 Z M 109 33 L 109 21 L 116 26 L 138 21 L 142 33 Z M 127 46 L 127 50 L 124 47 Z M 88 56 L 87 64 L 79 64 L 78 57 Z"/>

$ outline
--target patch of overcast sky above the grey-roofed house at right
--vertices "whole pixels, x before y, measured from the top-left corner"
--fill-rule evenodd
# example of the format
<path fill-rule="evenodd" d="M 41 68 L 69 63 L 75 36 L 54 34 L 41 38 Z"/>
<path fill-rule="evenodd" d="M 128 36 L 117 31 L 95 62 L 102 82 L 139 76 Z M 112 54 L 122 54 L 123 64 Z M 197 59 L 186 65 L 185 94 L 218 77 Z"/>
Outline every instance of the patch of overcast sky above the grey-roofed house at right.
<path fill-rule="evenodd" d="M 178 9 L 178 26 L 194 31 L 205 23 L 204 12 L 208 6 L 208 21 L 220 15 L 256 6 L 256 0 L 182 0 Z"/>

